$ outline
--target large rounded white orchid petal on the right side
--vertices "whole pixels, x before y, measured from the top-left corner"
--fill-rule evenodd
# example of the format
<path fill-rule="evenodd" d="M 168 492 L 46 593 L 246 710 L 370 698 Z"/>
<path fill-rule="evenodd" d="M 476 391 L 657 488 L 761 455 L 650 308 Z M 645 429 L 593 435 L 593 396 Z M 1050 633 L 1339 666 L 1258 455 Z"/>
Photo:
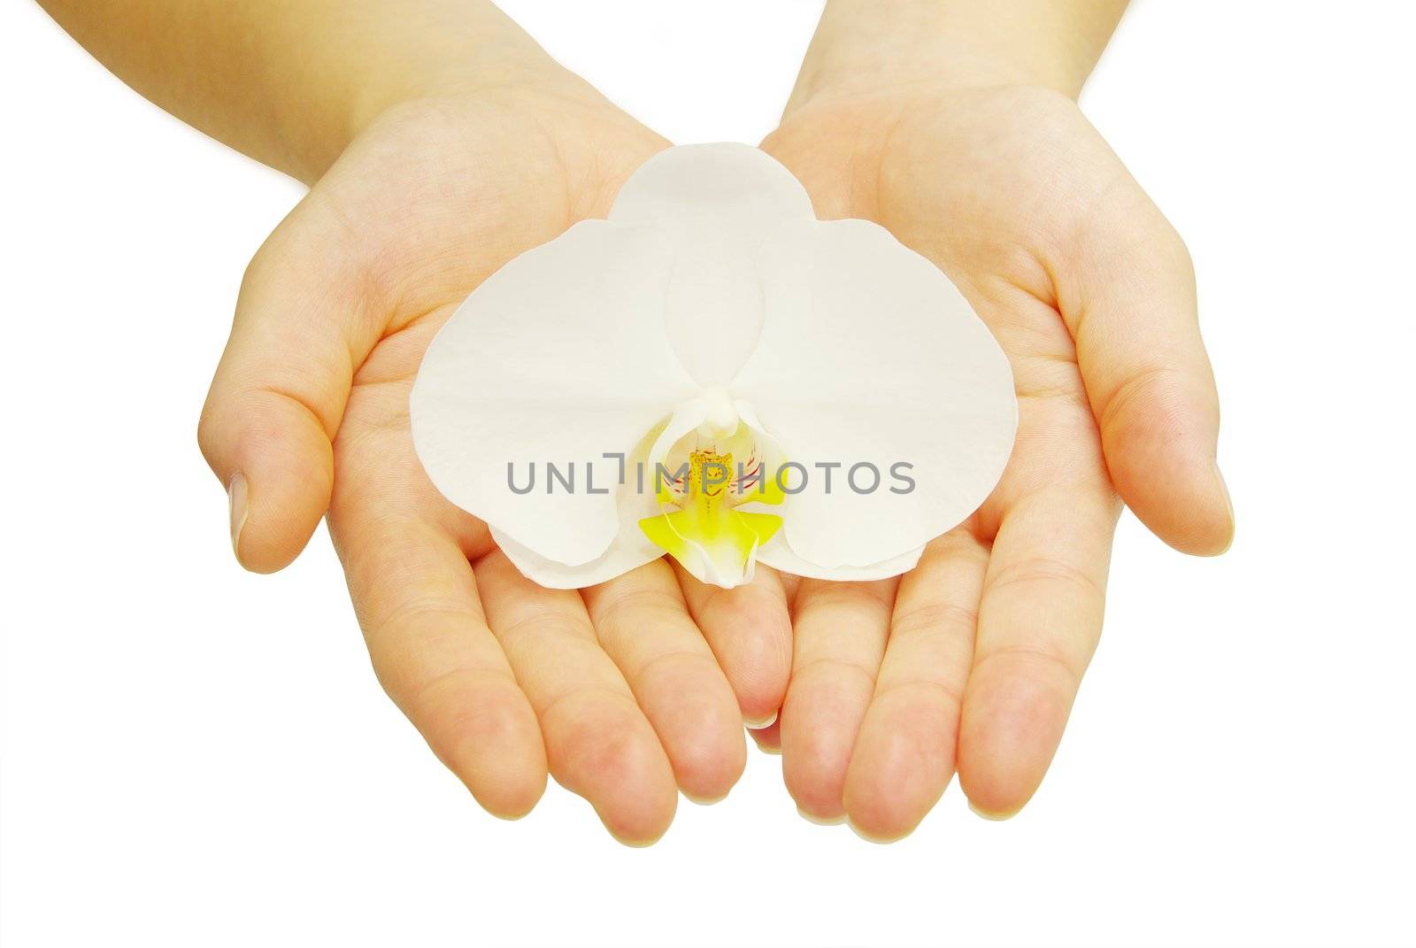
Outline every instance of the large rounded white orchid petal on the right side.
<path fill-rule="evenodd" d="M 732 391 L 806 469 L 782 507 L 792 551 L 821 570 L 869 567 L 970 516 L 1007 465 L 1017 400 L 959 289 L 867 221 L 779 228 L 759 269 L 766 319 Z M 874 489 L 848 483 L 855 469 L 871 486 L 871 468 Z"/>

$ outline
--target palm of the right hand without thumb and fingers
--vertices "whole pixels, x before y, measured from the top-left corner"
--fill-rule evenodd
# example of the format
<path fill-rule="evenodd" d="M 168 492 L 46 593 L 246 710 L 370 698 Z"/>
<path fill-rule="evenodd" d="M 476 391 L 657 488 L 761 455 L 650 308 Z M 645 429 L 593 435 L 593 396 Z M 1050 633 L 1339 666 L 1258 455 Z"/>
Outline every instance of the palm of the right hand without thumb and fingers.
<path fill-rule="evenodd" d="M 1123 183 L 1124 170 L 1061 96 L 959 98 L 953 108 L 920 102 L 901 122 L 879 154 L 872 197 L 875 220 L 960 285 L 1010 357 L 1017 449 L 969 524 L 991 544 L 1010 512 L 1039 495 L 1058 504 L 1114 503 L 1049 273 L 1063 266 L 1058 239 L 1082 231 L 1096 194 Z"/>

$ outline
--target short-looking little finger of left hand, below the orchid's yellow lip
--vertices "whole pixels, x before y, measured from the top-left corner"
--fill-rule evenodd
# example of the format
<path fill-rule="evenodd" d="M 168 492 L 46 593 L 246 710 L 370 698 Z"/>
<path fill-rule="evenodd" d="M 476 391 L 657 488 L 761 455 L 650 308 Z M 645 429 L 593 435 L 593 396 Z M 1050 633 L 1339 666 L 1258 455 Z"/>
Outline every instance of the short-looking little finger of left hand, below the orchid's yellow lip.
<path fill-rule="evenodd" d="M 752 582 L 733 589 L 705 585 L 674 564 L 688 611 L 712 653 L 749 727 L 777 717 L 792 675 L 792 614 L 776 570 L 758 564 Z"/>

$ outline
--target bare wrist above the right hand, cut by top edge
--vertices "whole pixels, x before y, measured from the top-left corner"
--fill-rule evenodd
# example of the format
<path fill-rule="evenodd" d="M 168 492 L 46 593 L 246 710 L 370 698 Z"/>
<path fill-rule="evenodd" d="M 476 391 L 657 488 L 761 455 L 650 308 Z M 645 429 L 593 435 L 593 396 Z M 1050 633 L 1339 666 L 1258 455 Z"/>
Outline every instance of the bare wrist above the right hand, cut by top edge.
<path fill-rule="evenodd" d="M 1076 98 L 1124 0 L 830 0 L 787 115 L 830 99 L 1035 85 Z"/>

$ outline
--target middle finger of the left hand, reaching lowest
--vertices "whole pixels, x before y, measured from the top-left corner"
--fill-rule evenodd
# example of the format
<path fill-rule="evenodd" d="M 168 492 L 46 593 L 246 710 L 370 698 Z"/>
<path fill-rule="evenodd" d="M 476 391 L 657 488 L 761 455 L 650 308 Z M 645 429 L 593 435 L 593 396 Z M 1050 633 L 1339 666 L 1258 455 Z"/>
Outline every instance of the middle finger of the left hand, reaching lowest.
<path fill-rule="evenodd" d="M 663 836 L 678 789 L 658 737 L 573 589 L 544 589 L 500 551 L 476 564 L 491 631 L 541 721 L 551 775 L 629 845 Z"/>

